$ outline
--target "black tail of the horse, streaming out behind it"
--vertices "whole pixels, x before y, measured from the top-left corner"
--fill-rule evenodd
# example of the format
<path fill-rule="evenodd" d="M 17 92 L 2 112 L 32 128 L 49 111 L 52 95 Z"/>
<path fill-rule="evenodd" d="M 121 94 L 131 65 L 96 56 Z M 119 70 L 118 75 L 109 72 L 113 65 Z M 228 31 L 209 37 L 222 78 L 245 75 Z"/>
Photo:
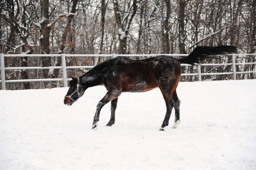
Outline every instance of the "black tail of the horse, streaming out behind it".
<path fill-rule="evenodd" d="M 187 63 L 195 66 L 196 64 L 200 64 L 200 61 L 206 59 L 209 56 L 236 52 L 236 46 L 197 46 L 186 58 L 179 59 L 179 61 L 181 63 Z"/>

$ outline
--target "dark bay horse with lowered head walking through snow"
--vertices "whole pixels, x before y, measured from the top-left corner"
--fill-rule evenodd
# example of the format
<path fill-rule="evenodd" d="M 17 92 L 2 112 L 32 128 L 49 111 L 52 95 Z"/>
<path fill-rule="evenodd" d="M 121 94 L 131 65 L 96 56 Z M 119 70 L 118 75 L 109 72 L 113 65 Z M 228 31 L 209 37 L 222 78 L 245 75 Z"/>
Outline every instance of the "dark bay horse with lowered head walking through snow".
<path fill-rule="evenodd" d="M 89 87 L 104 85 L 107 94 L 96 105 L 92 129 L 98 126 L 102 107 L 111 101 L 111 117 L 106 126 L 115 124 L 115 111 L 118 97 L 122 92 L 146 92 L 159 87 L 166 103 L 166 114 L 160 130 L 169 125 L 171 111 L 175 109 L 175 121 L 172 128 L 180 123 L 176 88 L 181 78 L 181 63 L 198 65 L 200 61 L 219 54 L 235 53 L 235 46 L 197 46 L 187 57 L 177 59 L 169 56 L 156 56 L 148 59 L 133 60 L 127 57 L 115 57 L 99 63 L 79 78 L 72 77 L 69 90 L 64 97 L 65 105 L 72 105 L 82 97 Z"/>

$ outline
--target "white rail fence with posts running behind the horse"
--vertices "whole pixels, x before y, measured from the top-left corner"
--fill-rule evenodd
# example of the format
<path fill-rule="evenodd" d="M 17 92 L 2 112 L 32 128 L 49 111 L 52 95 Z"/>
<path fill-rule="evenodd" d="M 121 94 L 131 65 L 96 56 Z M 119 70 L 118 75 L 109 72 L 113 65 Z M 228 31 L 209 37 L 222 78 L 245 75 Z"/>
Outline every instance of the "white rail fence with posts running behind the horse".
<path fill-rule="evenodd" d="M 6 83 L 22 83 L 22 82 L 51 82 L 51 81 L 63 81 L 64 87 L 68 86 L 67 69 L 91 69 L 94 66 L 66 66 L 66 57 L 154 57 L 158 54 L 0 54 L 0 66 L 1 66 L 1 86 L 2 90 L 6 90 Z M 166 56 L 187 56 L 188 54 L 163 54 Z M 236 56 L 250 56 L 256 54 L 231 54 L 232 63 L 202 63 L 198 65 L 198 73 L 183 73 L 182 76 L 198 76 L 198 80 L 202 81 L 203 75 L 232 75 L 233 79 L 236 80 L 237 74 L 255 74 L 255 67 L 253 71 L 240 71 L 236 72 L 237 65 L 255 65 L 256 62 L 244 62 L 236 63 Z M 51 67 L 5 67 L 5 57 L 61 57 L 62 66 L 51 66 Z M 182 66 L 190 66 L 187 64 L 182 64 Z M 201 66 L 232 66 L 233 71 L 228 73 L 201 73 Z M 52 79 L 18 79 L 18 80 L 6 80 L 5 70 L 30 70 L 30 69 L 62 69 L 62 78 L 52 78 Z"/>

